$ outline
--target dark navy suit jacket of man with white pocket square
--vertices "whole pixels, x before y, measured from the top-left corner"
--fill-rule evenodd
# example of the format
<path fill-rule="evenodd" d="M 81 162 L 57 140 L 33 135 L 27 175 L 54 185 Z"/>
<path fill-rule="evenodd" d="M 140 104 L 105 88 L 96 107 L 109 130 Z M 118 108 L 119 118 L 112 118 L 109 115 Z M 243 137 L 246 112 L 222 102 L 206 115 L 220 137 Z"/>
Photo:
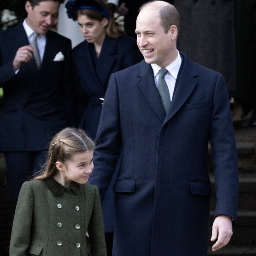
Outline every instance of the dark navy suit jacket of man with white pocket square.
<path fill-rule="evenodd" d="M 37 151 L 49 147 L 49 137 L 66 122 L 71 100 L 71 41 L 48 31 L 39 72 L 34 59 L 17 75 L 12 62 L 17 50 L 29 45 L 23 24 L 0 32 L 0 151 Z M 64 61 L 53 61 L 62 52 Z"/>

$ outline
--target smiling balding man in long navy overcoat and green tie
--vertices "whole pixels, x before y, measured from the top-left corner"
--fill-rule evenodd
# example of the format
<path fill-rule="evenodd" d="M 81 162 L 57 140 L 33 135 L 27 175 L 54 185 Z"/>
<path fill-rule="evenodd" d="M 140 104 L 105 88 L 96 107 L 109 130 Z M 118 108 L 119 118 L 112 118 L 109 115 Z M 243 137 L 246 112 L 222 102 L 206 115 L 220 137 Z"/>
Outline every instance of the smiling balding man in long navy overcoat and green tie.
<path fill-rule="evenodd" d="M 209 140 L 217 196 L 213 251 L 229 242 L 236 222 L 237 151 L 226 84 L 177 51 L 179 24 L 171 4 L 144 5 L 136 34 L 145 60 L 114 73 L 105 94 L 90 184 L 103 201 L 122 150 L 113 256 L 207 255 Z"/>

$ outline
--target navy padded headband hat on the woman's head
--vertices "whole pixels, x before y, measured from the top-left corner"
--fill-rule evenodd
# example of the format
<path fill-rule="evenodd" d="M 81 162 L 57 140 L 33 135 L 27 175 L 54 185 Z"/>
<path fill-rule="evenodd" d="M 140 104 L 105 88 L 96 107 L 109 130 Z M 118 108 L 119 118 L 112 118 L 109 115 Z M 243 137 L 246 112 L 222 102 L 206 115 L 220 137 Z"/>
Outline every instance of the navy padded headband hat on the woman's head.
<path fill-rule="evenodd" d="M 65 4 L 67 8 L 68 18 L 75 20 L 75 12 L 78 10 L 92 10 L 101 13 L 105 16 L 106 19 L 109 19 L 109 14 L 107 9 L 95 0 L 68 0 L 68 3 Z"/>

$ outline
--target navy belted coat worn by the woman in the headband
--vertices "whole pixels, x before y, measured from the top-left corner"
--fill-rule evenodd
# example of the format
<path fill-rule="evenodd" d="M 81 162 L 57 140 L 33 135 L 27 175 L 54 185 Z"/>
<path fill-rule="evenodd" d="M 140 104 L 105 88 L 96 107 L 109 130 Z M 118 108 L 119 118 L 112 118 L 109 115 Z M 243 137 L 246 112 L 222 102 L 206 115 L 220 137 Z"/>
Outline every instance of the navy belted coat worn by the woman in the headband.
<path fill-rule="evenodd" d="M 118 38 L 106 36 L 101 54 L 94 65 L 91 48 L 83 41 L 72 50 L 75 68 L 75 106 L 79 126 L 95 139 L 102 111 L 102 101 L 113 72 L 128 68 L 143 59 L 136 40 L 126 35 Z M 117 168 L 118 169 L 118 168 Z M 115 173 L 115 177 L 117 172 Z M 89 179 L 90 183 L 90 179 Z M 113 232 L 113 182 L 102 205 L 105 232 Z"/>

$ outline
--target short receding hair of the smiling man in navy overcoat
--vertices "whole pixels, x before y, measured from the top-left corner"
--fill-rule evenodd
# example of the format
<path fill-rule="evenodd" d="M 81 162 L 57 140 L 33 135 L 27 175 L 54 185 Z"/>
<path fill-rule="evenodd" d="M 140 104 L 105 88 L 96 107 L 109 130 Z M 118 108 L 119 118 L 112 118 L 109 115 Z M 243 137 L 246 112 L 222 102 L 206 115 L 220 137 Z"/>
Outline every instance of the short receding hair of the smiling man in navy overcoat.
<path fill-rule="evenodd" d="M 145 4 L 143 4 L 139 11 L 142 11 L 145 7 L 147 7 L 149 4 L 152 4 L 152 8 L 159 10 L 159 17 L 161 20 L 161 25 L 164 28 L 165 33 L 168 32 L 169 28 L 172 25 L 177 26 L 177 37 L 180 31 L 180 14 L 178 13 L 177 9 L 172 5 L 168 4 L 166 6 L 160 6 L 158 3 L 158 0 L 149 1 Z"/>

